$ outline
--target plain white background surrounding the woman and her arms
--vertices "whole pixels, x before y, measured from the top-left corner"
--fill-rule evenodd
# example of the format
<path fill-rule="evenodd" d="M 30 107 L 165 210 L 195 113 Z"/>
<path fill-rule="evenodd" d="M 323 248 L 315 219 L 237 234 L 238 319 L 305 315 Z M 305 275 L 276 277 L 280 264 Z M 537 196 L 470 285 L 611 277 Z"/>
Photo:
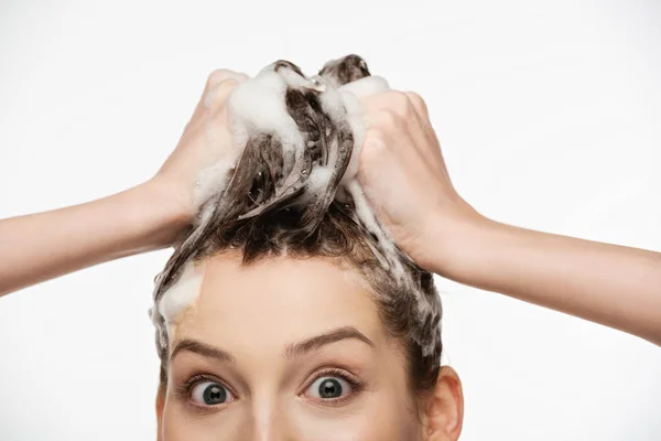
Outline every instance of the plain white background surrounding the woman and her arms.
<path fill-rule="evenodd" d="M 426 98 L 485 215 L 661 250 L 661 2 L 177 3 L 0 1 L 0 217 L 149 179 L 214 68 L 357 53 Z M 0 299 L 1 440 L 155 438 L 147 311 L 170 252 Z M 462 440 L 661 439 L 659 347 L 437 283 Z"/>

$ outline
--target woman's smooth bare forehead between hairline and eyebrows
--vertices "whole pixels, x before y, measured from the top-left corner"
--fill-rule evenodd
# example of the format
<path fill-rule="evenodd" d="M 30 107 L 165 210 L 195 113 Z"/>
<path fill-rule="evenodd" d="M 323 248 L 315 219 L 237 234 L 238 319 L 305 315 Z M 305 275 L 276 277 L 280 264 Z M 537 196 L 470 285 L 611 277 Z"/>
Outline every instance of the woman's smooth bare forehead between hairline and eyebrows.
<path fill-rule="evenodd" d="M 249 349 L 355 326 L 369 338 L 386 338 L 367 282 L 325 258 L 273 257 L 243 266 L 238 255 L 224 254 L 205 262 L 199 289 L 175 337 Z"/>

